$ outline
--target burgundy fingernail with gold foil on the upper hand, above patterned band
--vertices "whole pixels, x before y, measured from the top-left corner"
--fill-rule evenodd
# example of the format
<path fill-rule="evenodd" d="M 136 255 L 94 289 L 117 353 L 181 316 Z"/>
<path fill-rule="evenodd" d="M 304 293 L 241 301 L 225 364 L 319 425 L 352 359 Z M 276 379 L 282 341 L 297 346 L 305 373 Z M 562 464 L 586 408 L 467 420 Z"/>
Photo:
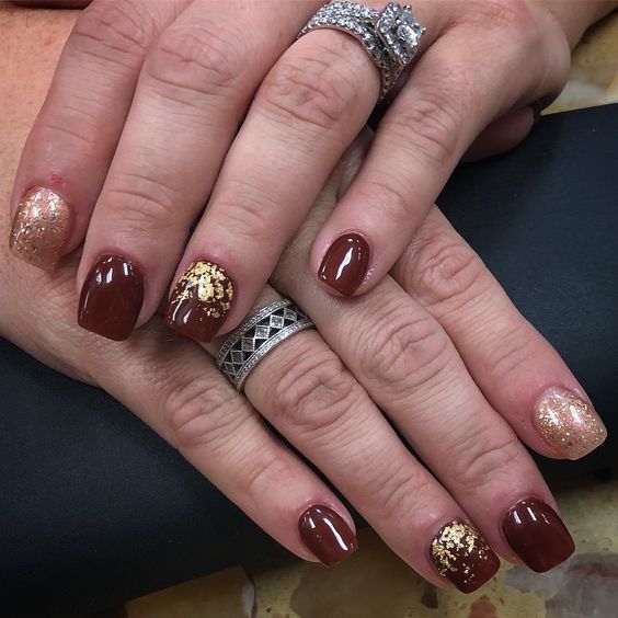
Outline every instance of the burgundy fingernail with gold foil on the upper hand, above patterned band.
<path fill-rule="evenodd" d="M 226 271 L 211 262 L 194 262 L 179 279 L 167 322 L 181 334 L 208 343 L 231 309 L 234 289 Z"/>

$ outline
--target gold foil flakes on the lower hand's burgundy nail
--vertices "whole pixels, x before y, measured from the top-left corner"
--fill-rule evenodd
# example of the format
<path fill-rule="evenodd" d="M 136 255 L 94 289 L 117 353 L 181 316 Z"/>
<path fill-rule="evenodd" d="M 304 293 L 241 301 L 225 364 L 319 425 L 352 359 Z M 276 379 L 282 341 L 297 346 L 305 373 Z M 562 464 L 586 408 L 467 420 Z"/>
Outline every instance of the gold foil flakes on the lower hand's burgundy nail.
<path fill-rule="evenodd" d="M 473 576 L 474 564 L 489 560 L 490 549 L 477 530 L 461 522 L 453 522 L 436 535 L 431 551 L 440 575 L 462 572 Z"/>

